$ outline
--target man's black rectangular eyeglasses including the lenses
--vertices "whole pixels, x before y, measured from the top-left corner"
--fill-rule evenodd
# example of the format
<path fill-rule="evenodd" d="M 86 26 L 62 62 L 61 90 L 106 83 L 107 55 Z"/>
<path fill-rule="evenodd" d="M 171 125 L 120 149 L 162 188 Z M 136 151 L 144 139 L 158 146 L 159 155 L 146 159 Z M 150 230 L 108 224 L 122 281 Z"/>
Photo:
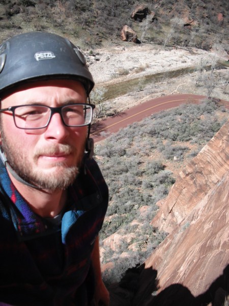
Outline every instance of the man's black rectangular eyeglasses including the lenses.
<path fill-rule="evenodd" d="M 68 104 L 60 107 L 44 105 L 20 105 L 1 109 L 0 112 L 13 113 L 14 123 L 19 129 L 43 129 L 48 126 L 53 114 L 61 115 L 66 126 L 85 126 L 92 121 L 93 104 Z"/>

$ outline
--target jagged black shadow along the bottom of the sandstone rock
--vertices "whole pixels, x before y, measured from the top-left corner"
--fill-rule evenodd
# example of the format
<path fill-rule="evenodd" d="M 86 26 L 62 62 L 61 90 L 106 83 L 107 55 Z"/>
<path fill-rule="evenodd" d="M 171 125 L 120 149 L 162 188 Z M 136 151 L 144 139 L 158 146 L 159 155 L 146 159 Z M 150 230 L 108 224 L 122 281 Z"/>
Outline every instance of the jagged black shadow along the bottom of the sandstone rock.
<path fill-rule="evenodd" d="M 127 270 L 118 285 L 110 286 L 110 306 L 229 305 L 229 265 L 205 293 L 196 297 L 181 284 L 170 285 L 157 294 L 157 271 L 144 268 L 145 265 L 141 265 Z"/>

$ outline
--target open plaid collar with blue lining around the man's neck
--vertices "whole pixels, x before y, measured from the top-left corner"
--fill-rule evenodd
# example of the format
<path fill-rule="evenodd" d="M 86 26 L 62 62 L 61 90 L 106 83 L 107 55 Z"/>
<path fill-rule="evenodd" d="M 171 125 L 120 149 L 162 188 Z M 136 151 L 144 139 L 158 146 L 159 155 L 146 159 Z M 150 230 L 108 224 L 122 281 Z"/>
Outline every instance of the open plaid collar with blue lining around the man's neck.
<path fill-rule="evenodd" d="M 30 240 L 35 237 L 49 235 L 62 230 L 62 237 L 67 234 L 69 224 L 85 211 L 99 205 L 101 196 L 93 177 L 90 176 L 90 171 L 87 170 L 87 188 L 85 188 L 84 174 L 79 174 L 73 186 L 68 189 L 68 205 L 65 222 L 62 222 L 62 228 L 40 217 L 32 211 L 27 202 L 23 199 L 20 193 L 10 180 L 5 166 L 0 164 L 0 191 L 6 195 L 4 202 L 9 209 L 14 228 L 19 241 Z M 81 177 L 81 179 L 80 179 Z M 91 183 L 91 186 L 90 186 Z M 92 193 L 88 194 L 88 191 Z M 76 204 L 77 203 L 77 204 Z M 64 237 L 63 237 L 64 239 Z"/>

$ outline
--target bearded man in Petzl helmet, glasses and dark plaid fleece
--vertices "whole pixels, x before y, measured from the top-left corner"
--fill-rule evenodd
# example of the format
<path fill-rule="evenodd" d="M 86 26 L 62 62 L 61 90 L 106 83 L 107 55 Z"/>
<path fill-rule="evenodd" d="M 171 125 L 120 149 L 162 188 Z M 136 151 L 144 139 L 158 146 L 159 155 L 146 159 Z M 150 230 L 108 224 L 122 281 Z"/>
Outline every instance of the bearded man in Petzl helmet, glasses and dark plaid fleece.
<path fill-rule="evenodd" d="M 79 49 L 58 35 L 25 33 L 0 46 L 0 305 L 109 304 L 93 86 Z"/>

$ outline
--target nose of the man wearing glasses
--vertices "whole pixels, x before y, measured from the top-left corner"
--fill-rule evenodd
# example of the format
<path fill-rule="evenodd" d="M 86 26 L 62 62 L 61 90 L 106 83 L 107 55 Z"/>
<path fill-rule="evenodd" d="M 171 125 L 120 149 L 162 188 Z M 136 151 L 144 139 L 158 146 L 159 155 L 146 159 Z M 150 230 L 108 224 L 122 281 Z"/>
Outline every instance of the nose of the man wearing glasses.
<path fill-rule="evenodd" d="M 46 127 L 45 138 L 62 141 L 68 135 L 69 128 L 64 125 L 61 115 L 59 113 L 53 114 L 48 126 Z"/>

